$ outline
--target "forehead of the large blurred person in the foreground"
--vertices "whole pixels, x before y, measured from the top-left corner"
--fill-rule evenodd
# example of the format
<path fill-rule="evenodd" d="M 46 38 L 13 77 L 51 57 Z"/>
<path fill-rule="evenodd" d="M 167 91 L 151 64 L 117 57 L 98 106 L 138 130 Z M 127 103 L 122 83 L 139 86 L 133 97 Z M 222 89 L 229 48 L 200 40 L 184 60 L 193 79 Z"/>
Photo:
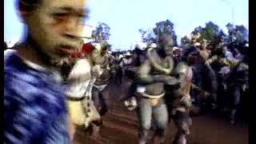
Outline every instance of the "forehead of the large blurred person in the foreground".
<path fill-rule="evenodd" d="M 60 9 L 68 11 L 85 11 L 86 0 L 43 0 L 42 6 L 50 9 Z"/>

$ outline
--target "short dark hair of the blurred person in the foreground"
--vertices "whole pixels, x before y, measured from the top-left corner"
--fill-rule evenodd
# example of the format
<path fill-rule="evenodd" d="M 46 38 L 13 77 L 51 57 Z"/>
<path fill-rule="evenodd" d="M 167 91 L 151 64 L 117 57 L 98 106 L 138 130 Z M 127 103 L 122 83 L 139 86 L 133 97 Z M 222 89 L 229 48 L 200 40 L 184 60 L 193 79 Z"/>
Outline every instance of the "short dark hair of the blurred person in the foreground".
<path fill-rule="evenodd" d="M 34 10 L 42 0 L 17 0 L 16 5 L 19 10 Z"/>

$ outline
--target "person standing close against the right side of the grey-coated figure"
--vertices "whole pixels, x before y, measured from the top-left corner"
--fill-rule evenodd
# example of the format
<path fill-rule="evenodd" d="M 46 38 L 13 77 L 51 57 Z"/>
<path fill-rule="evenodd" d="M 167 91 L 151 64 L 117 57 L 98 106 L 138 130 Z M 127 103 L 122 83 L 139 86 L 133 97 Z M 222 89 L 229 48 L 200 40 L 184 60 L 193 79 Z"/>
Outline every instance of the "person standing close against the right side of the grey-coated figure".
<path fill-rule="evenodd" d="M 167 88 L 166 99 L 171 102 L 171 114 L 175 125 L 178 127 L 174 143 L 186 144 L 186 135 L 190 134 L 190 126 L 192 125 L 192 119 L 189 114 L 192 106 L 190 87 L 192 86 L 193 72 L 186 62 L 179 62 L 174 73 L 178 74 L 178 81 L 181 82 L 181 85 L 178 87 L 171 86 L 170 89 Z"/>

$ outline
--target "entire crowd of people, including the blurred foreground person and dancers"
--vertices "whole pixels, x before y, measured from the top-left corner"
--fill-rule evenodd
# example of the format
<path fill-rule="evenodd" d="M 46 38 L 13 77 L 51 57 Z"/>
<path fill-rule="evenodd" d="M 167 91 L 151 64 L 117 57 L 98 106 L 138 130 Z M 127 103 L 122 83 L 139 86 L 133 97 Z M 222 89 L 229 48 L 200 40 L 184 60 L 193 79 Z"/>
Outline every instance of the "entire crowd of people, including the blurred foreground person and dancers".
<path fill-rule="evenodd" d="M 124 77 L 131 80 L 123 100 L 137 113 L 139 144 L 151 129 L 154 143 L 165 142 L 170 119 L 178 127 L 174 143 L 186 144 L 198 111 L 227 109 L 236 122 L 249 90 L 246 42 L 207 42 L 194 34 L 188 45 L 174 46 L 170 34 L 161 34 L 157 43 L 113 52 L 106 41 L 86 43 L 80 35 L 84 6 L 17 1 L 28 31 L 12 48 L 5 42 L 5 143 L 70 143 L 78 126 L 99 140 L 108 86 L 120 86 Z"/>

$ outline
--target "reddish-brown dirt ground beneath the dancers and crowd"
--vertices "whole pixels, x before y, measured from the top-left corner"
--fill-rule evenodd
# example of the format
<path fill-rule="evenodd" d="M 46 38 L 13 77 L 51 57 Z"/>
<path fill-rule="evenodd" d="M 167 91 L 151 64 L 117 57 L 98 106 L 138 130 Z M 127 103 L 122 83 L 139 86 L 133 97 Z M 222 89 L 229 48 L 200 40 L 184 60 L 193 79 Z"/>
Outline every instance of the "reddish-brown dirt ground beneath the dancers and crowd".
<path fill-rule="evenodd" d="M 129 81 L 125 78 L 122 86 L 110 85 L 111 109 L 103 117 L 103 128 L 101 131 L 104 143 L 110 144 L 136 144 L 138 121 L 134 111 L 126 110 L 118 99 L 126 94 Z M 176 128 L 171 122 L 167 130 L 166 144 L 170 144 L 174 138 Z M 152 142 L 152 137 L 148 139 Z M 78 129 L 74 144 L 96 144 L 90 140 L 83 130 Z M 193 118 L 191 134 L 188 144 L 246 144 L 248 143 L 248 128 L 238 123 L 230 125 L 225 118 L 206 114 Z"/>

